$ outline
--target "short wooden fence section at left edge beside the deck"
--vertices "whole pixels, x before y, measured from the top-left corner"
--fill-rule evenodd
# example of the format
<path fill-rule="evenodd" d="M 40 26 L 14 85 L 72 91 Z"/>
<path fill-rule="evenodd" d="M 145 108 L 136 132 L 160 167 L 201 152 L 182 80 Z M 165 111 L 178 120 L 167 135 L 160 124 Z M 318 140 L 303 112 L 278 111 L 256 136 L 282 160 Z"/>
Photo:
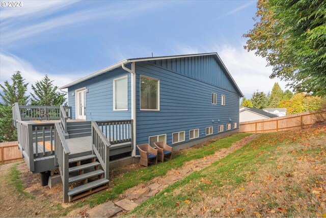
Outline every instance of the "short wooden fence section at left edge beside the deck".
<path fill-rule="evenodd" d="M 18 141 L 0 143 L 0 164 L 23 160 L 17 144 Z"/>

